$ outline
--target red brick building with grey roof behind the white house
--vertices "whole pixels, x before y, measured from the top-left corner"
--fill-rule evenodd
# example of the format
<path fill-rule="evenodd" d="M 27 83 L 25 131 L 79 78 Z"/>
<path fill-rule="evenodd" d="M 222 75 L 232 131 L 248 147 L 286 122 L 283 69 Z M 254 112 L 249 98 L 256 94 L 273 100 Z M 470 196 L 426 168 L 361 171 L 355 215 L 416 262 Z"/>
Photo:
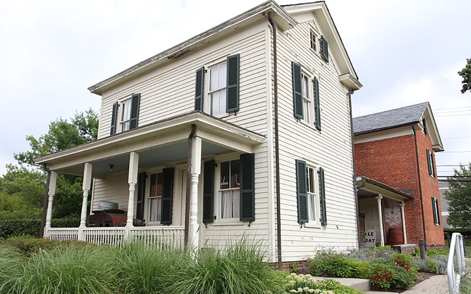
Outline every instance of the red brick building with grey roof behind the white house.
<path fill-rule="evenodd" d="M 354 118 L 353 133 L 356 174 L 413 197 L 402 201 L 404 243 L 418 243 L 423 238 L 428 247 L 443 245 L 434 153 L 444 148 L 430 104 L 425 102 Z M 360 214 L 365 214 L 361 210 L 367 199 L 359 193 Z M 391 205 L 390 199 L 385 200 L 381 208 L 382 237 L 389 240 L 391 229 L 401 228 L 402 220 L 397 205 Z"/>

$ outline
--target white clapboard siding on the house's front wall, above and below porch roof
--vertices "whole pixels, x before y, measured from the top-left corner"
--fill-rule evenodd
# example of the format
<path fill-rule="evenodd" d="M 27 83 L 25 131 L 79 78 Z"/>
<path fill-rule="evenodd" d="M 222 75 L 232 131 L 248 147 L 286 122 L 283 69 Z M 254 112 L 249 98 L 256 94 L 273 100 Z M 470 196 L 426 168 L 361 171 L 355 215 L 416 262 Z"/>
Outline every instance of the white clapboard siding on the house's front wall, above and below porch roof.
<path fill-rule="evenodd" d="M 115 101 L 131 97 L 133 93 L 141 93 L 139 126 L 193 111 L 196 70 L 202 66 L 207 69 L 208 65 L 218 60 L 225 60 L 227 56 L 232 54 L 240 54 L 240 110 L 236 115 L 231 114 L 221 118 L 266 135 L 268 92 L 266 85 L 267 78 L 269 78 L 266 64 L 269 62 L 267 58 L 271 58 L 271 56 L 267 56 L 269 51 L 265 47 L 268 30 L 268 22 L 265 21 L 236 31 L 230 37 L 188 53 L 188 55 L 184 55 L 162 68 L 105 92 L 102 98 L 99 138 L 109 136 L 112 104 Z M 206 75 L 205 79 L 208 78 L 209 75 Z M 206 93 L 205 99 L 209 99 Z M 209 110 L 205 109 L 205 112 L 209 112 Z M 253 152 L 255 153 L 255 221 L 250 224 L 250 227 L 247 226 L 248 223 L 240 222 L 229 225 L 208 224 L 208 227 L 205 228 L 205 225 L 201 223 L 203 178 L 200 177 L 198 203 L 198 219 L 202 234 L 200 246 L 207 244 L 222 248 L 228 242 L 235 242 L 240 240 L 241 236 L 245 236 L 248 240 L 256 240 L 262 245 L 269 246 L 270 252 L 268 254 L 271 255 L 273 252 L 272 238 L 268 234 L 268 223 L 273 218 L 268 217 L 269 207 L 272 208 L 272 204 L 268 202 L 267 166 L 269 159 L 267 143 L 255 147 Z M 215 197 L 217 196 L 215 194 Z M 96 207 L 101 200 L 108 200 L 118 202 L 120 208 L 127 209 L 127 199 L 126 173 L 106 176 L 104 180 L 96 180 L 93 207 Z M 214 211 L 217 211 L 216 208 Z"/>

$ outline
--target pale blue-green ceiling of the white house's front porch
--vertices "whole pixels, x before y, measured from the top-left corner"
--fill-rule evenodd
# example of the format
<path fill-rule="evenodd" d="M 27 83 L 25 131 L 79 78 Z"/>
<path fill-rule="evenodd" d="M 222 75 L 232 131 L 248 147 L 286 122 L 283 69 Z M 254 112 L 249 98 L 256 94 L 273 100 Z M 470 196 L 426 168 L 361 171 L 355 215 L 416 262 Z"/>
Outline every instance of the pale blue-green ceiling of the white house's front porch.
<path fill-rule="evenodd" d="M 203 157 L 211 154 L 221 154 L 231 151 L 231 149 L 217 146 L 205 141 L 203 141 L 201 144 L 201 154 Z M 139 153 L 139 168 L 159 166 L 169 162 L 185 161 L 187 152 L 188 142 L 180 142 L 172 145 L 145 150 Z M 113 165 L 112 171 L 110 170 L 109 165 Z M 65 170 L 64 172 L 81 175 L 83 174 L 83 167 L 84 165 L 78 165 L 68 170 Z M 95 177 L 100 177 L 100 175 L 106 175 L 115 172 L 124 172 L 128 169 L 129 154 L 125 154 L 94 162 L 92 170 Z"/>

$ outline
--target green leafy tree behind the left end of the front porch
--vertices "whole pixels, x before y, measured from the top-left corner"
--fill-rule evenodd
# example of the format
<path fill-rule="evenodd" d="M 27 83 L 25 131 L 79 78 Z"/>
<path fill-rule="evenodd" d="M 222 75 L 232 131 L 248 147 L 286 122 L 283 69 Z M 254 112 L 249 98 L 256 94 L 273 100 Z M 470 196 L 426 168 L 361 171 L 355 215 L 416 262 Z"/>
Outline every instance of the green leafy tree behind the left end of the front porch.
<path fill-rule="evenodd" d="M 97 139 L 98 114 L 92 109 L 75 114 L 70 120 L 59 118 L 49 124 L 49 130 L 39 138 L 27 136 L 30 149 L 16 153 L 19 165 L 8 165 L 7 173 L 0 178 L 0 197 L 15 195 L 21 197 L 28 208 L 43 206 L 46 172 L 34 164 L 33 159 L 51 152 L 60 151 Z M 57 189 L 54 196 L 54 217 L 79 215 L 82 199 L 82 179 L 79 176 L 57 175 Z M 0 207 L 1 210 L 1 207 Z"/>

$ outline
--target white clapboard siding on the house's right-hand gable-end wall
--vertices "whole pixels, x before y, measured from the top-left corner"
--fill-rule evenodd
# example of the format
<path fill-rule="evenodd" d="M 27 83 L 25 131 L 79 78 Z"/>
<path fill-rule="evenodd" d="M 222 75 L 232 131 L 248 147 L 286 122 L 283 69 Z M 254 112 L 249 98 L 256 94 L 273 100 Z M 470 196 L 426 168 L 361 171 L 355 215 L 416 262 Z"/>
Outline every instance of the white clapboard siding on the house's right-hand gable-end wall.
<path fill-rule="evenodd" d="M 338 79 L 332 56 L 326 64 L 310 48 L 311 27 L 313 21 L 278 32 L 283 261 L 306 259 L 322 247 L 347 250 L 358 246 L 348 92 Z M 321 132 L 297 122 L 293 116 L 291 61 L 301 64 L 319 79 Z M 325 228 L 300 228 L 297 222 L 296 159 L 325 170 L 328 222 Z"/>

